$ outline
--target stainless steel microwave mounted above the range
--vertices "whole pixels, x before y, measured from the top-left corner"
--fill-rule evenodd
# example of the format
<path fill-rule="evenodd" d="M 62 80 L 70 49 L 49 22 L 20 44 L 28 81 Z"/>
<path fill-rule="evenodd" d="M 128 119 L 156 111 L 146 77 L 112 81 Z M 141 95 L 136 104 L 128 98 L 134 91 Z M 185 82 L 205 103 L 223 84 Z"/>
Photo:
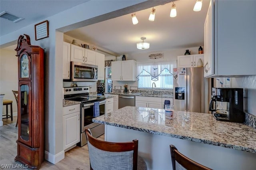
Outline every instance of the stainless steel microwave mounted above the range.
<path fill-rule="evenodd" d="M 71 61 L 70 81 L 98 81 L 98 66 Z"/>

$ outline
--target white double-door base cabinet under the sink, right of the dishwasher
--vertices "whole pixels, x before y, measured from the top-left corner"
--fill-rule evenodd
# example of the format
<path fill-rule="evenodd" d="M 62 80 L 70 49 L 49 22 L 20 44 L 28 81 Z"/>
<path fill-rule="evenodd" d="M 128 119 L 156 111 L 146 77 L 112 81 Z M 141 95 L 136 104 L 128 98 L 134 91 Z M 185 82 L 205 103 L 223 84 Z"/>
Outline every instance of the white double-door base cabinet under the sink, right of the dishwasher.
<path fill-rule="evenodd" d="M 162 109 L 162 98 L 136 96 L 135 106 Z"/>

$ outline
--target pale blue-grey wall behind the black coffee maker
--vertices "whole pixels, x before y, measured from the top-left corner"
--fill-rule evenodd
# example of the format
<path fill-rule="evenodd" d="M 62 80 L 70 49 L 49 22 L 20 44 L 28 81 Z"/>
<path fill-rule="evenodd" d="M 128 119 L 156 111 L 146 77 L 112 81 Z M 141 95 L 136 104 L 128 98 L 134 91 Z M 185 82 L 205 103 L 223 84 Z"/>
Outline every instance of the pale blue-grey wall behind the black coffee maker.
<path fill-rule="evenodd" d="M 256 75 L 233 77 L 231 86 L 244 88 L 244 110 L 256 116 Z"/>

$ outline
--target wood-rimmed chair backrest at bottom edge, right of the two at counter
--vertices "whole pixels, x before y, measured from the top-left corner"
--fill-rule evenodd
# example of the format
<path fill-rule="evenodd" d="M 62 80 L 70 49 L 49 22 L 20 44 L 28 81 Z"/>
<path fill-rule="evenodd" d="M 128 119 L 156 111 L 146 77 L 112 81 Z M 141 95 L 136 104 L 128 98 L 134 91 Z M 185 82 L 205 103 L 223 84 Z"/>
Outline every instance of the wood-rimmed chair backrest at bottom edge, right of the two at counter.
<path fill-rule="evenodd" d="M 198 164 L 190 158 L 181 154 L 178 149 L 170 144 L 171 158 L 172 158 L 172 169 L 173 170 L 211 170 L 206 166 Z"/>

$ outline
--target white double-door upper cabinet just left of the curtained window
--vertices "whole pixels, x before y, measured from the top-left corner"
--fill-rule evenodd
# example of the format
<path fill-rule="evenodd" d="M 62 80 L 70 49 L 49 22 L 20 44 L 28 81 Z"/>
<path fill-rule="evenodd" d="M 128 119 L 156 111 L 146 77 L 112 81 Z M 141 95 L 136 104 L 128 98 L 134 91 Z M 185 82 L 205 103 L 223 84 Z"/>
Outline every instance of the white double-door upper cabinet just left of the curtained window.
<path fill-rule="evenodd" d="M 136 61 L 112 61 L 112 81 L 136 81 Z"/>

